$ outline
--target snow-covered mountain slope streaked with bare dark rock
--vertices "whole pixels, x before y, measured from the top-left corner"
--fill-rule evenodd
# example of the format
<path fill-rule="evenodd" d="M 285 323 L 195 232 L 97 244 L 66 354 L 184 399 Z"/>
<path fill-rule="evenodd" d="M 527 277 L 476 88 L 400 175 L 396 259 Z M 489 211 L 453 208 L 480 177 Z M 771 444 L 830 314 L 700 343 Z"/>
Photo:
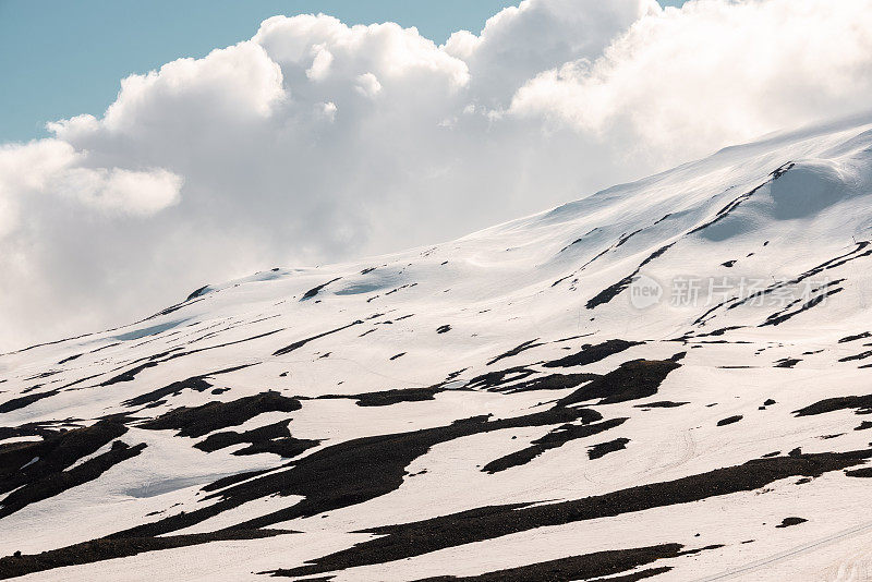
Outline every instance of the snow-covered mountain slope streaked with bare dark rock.
<path fill-rule="evenodd" d="M 3 354 L 0 575 L 864 580 L 871 240 L 867 116 Z"/>

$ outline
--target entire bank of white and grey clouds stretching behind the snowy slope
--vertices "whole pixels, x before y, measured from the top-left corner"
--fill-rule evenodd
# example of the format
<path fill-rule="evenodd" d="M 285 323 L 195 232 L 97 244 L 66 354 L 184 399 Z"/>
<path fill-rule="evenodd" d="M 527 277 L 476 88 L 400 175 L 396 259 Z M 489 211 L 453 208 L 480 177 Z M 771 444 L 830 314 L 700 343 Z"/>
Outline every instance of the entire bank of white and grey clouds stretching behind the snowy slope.
<path fill-rule="evenodd" d="M 0 349 L 438 242 L 868 107 L 872 0 L 525 0 L 436 46 L 276 16 L 0 146 Z"/>

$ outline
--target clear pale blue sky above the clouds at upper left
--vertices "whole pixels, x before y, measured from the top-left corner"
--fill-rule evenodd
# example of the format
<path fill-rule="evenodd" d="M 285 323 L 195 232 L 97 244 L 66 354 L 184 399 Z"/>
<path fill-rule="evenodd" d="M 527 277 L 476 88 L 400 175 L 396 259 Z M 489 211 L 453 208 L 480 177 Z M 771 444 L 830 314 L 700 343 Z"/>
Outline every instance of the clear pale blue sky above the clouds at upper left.
<path fill-rule="evenodd" d="M 251 37 L 275 14 L 393 21 L 438 44 L 479 32 L 509 0 L 0 0 L 0 143 L 46 134 L 47 121 L 101 113 L 119 81 Z M 677 5 L 683 0 L 662 0 Z"/>

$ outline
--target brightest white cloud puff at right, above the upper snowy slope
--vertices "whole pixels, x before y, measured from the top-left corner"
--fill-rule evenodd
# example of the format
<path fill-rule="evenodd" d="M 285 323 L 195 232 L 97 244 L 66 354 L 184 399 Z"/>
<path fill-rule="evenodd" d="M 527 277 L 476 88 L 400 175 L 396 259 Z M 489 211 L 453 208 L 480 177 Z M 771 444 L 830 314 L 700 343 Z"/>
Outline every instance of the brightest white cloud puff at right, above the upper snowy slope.
<path fill-rule="evenodd" d="M 697 0 L 641 19 L 597 59 L 540 73 L 511 113 L 629 132 L 673 161 L 872 102 L 868 0 Z M 687 155 L 687 154 L 682 154 Z"/>

